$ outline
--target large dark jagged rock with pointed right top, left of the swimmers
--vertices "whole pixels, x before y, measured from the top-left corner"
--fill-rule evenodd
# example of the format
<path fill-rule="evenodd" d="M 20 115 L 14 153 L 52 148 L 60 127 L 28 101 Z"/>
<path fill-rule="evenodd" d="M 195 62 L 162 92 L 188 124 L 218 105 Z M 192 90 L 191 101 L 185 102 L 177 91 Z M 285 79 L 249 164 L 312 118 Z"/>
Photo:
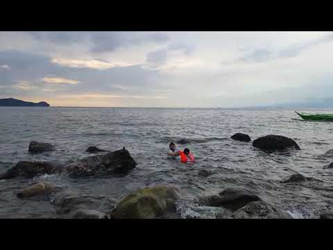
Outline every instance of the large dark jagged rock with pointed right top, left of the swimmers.
<path fill-rule="evenodd" d="M 72 177 L 112 175 L 122 177 L 137 165 L 126 149 L 89 156 L 76 163 L 67 165 L 67 171 Z"/>

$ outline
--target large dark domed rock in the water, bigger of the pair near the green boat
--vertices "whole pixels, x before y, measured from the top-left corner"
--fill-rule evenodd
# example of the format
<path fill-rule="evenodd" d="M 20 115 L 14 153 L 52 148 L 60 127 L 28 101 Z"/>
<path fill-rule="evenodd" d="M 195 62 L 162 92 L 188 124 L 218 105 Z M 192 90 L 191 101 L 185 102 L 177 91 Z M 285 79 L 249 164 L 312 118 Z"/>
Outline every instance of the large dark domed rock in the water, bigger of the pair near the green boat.
<path fill-rule="evenodd" d="M 300 150 L 298 144 L 282 135 L 266 135 L 253 141 L 253 147 L 266 150 L 283 150 L 289 147 Z"/>

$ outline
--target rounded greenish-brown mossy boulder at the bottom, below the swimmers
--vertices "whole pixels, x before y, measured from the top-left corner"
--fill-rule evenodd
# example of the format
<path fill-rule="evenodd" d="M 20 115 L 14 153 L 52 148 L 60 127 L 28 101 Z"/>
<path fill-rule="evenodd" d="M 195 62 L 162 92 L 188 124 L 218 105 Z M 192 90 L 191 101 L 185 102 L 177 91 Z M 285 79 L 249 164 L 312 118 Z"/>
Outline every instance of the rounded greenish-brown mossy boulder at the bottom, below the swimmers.
<path fill-rule="evenodd" d="M 112 219 L 153 219 L 176 210 L 178 190 L 169 186 L 155 186 L 137 190 L 125 197 L 112 210 Z"/>

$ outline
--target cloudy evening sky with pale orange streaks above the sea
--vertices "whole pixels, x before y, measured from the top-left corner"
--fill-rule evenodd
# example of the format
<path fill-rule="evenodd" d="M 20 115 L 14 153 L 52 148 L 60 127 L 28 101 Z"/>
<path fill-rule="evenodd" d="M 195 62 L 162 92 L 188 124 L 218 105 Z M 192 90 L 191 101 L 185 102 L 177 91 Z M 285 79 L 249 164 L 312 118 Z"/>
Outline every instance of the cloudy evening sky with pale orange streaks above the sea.
<path fill-rule="evenodd" d="M 0 98 L 241 107 L 333 97 L 333 32 L 0 32 Z"/>

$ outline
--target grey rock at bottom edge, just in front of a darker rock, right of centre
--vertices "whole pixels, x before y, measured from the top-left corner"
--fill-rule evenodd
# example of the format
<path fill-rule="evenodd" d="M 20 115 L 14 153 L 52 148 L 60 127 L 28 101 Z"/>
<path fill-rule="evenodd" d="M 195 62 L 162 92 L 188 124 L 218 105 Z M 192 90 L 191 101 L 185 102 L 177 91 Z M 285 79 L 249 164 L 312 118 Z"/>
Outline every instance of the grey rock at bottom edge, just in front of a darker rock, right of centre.
<path fill-rule="evenodd" d="M 264 201 L 252 201 L 236 210 L 232 216 L 234 219 L 293 219 L 289 213 Z"/>

